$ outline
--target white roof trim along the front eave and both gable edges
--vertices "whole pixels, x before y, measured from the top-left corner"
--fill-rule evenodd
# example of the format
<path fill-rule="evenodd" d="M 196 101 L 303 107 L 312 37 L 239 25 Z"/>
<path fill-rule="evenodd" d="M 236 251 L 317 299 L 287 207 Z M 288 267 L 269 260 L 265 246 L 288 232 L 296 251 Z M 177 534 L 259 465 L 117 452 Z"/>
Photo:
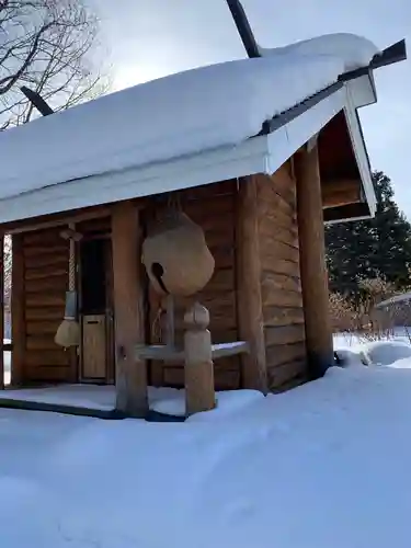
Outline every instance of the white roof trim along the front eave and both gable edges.
<path fill-rule="evenodd" d="M 221 147 L 142 168 L 92 175 L 1 199 L 0 222 L 161 194 L 256 173 L 272 174 L 341 110 L 345 112 L 364 191 L 374 215 L 375 194 L 353 106 L 355 96 L 353 100 L 352 89 L 344 85 L 274 133 L 248 139 L 238 146 Z"/>

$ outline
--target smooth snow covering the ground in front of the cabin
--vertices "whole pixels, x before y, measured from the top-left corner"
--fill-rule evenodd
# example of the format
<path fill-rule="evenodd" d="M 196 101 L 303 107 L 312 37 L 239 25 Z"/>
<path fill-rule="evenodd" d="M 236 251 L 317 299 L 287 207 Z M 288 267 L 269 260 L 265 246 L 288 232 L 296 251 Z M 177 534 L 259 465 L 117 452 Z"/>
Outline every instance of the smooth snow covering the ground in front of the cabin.
<path fill-rule="evenodd" d="M 410 363 L 184 424 L 0 410 L 1 545 L 408 548 Z"/>

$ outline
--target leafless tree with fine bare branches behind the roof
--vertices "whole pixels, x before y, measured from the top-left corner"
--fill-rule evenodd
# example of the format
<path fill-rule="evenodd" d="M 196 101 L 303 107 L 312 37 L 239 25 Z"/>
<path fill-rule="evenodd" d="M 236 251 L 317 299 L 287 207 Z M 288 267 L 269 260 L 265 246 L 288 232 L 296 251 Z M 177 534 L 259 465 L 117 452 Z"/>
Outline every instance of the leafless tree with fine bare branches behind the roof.
<path fill-rule="evenodd" d="M 27 85 L 55 111 L 107 91 L 98 66 L 99 24 L 87 0 L 0 0 L 0 130 L 38 113 Z"/>

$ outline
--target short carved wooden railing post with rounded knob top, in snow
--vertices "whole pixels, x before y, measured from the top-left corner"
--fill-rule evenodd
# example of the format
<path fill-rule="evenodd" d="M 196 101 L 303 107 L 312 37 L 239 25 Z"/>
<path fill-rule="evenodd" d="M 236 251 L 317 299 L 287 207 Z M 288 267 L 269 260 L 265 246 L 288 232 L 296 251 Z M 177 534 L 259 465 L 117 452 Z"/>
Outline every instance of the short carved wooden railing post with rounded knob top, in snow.
<path fill-rule="evenodd" d="M 184 316 L 185 413 L 187 416 L 216 407 L 208 310 L 194 304 Z"/>

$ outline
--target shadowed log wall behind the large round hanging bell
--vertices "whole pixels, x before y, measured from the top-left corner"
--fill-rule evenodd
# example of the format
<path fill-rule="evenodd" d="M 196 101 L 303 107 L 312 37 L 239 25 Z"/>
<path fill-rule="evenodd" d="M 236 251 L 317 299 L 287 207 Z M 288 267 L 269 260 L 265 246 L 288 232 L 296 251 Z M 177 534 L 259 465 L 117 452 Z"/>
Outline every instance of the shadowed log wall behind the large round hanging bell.
<path fill-rule="evenodd" d="M 208 308 L 213 343 L 238 340 L 236 269 L 235 269 L 235 198 L 236 181 L 191 189 L 180 193 L 182 209 L 205 231 L 207 244 L 214 255 L 216 269 L 208 285 L 193 298 L 176 299 L 176 341 L 182 342 L 183 313 L 194 300 Z M 150 342 L 159 342 L 156 315 L 159 299 L 149 290 Z M 163 327 L 163 326 L 162 326 Z M 164 329 L 161 330 L 164 334 Z M 164 339 L 162 339 L 162 342 Z M 184 386 L 183 364 L 164 365 L 152 362 L 150 380 L 155 386 Z M 240 388 L 240 361 L 238 356 L 215 363 L 217 390 Z"/>

